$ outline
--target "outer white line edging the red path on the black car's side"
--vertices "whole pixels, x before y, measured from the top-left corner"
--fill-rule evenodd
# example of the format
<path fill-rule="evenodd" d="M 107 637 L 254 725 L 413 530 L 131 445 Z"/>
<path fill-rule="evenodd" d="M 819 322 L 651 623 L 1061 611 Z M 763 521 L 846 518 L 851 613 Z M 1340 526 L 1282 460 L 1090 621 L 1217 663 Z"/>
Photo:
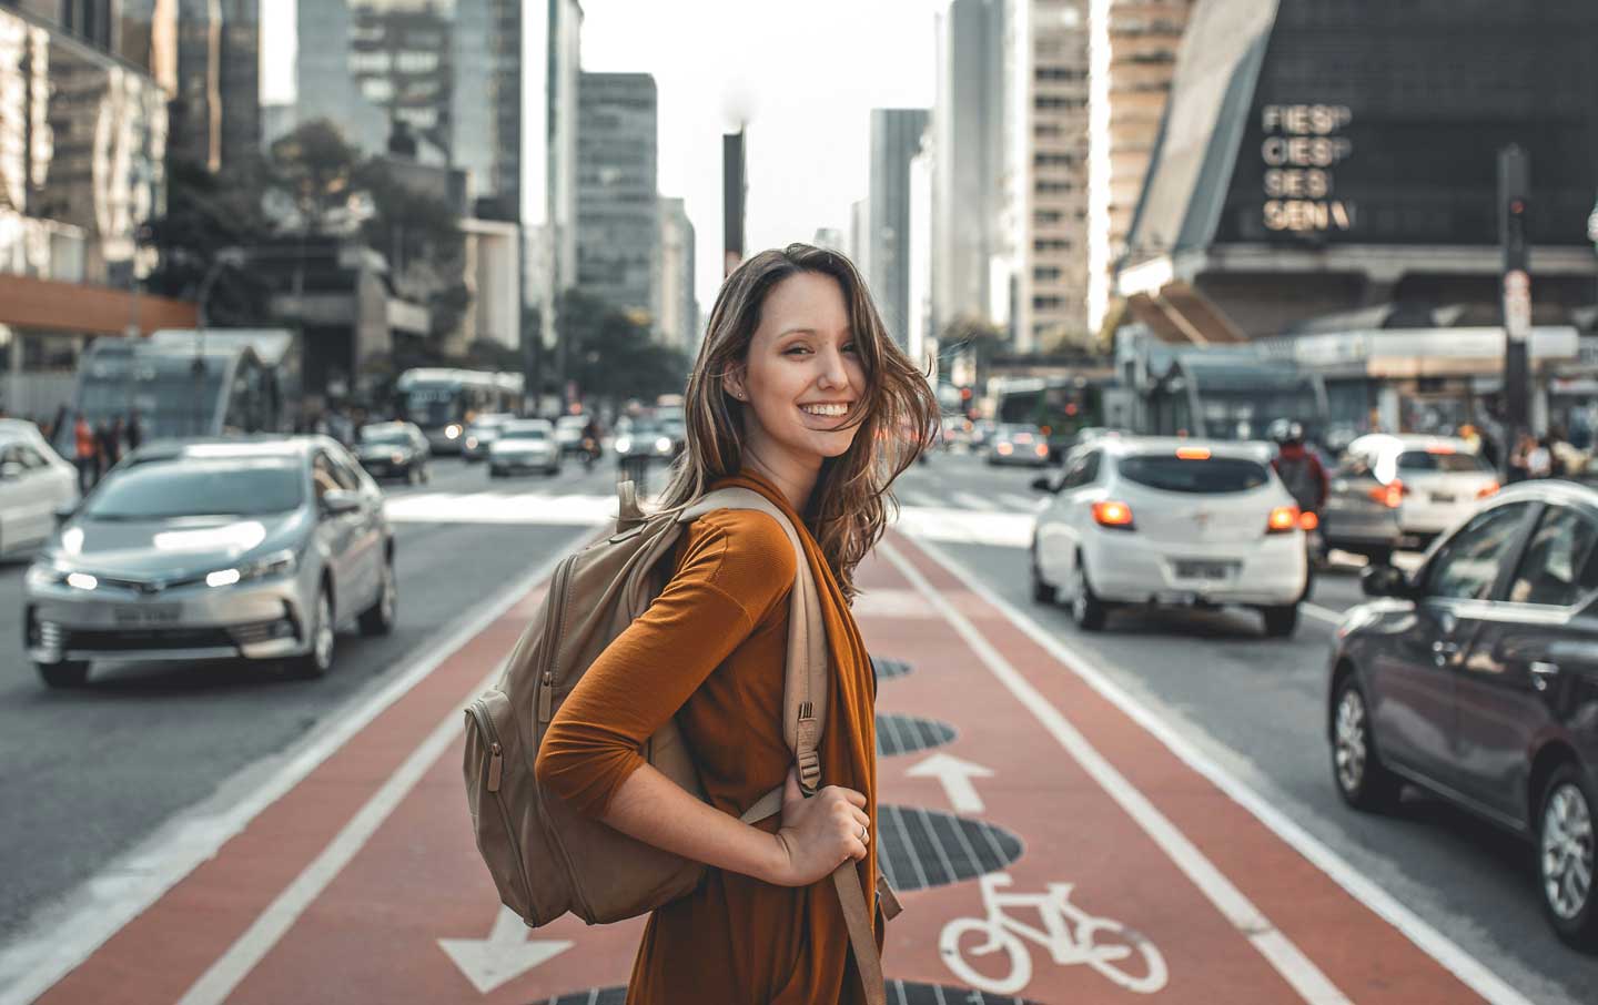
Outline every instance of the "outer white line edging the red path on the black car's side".
<path fill-rule="evenodd" d="M 892 545 L 882 542 L 882 546 Z M 1376 912 L 1384 922 L 1401 932 L 1405 938 L 1437 960 L 1445 970 L 1459 978 L 1467 987 L 1493 1005 L 1536 1005 L 1524 994 L 1510 987 L 1504 978 L 1493 973 L 1477 957 L 1465 952 L 1459 943 L 1438 932 L 1430 922 L 1406 908 L 1392 893 L 1371 882 L 1369 877 L 1349 864 L 1342 855 L 1306 831 L 1264 796 L 1229 773 L 1208 754 L 1198 749 L 1191 740 L 1171 729 L 1147 706 L 1122 690 L 1122 687 L 1111 681 L 1109 676 L 1098 668 L 1098 663 L 1095 663 L 1085 652 L 1080 652 L 1074 646 L 1067 646 L 1056 636 L 1050 634 L 1048 630 L 1023 614 L 1010 601 L 989 590 L 988 585 L 976 578 L 970 569 L 960 566 L 936 545 L 917 540 L 916 546 L 920 548 L 932 561 L 943 566 L 951 575 L 957 577 L 967 590 L 999 609 L 1012 625 L 1048 650 L 1050 655 L 1059 660 L 1067 671 L 1085 681 L 1093 690 L 1103 695 L 1104 700 L 1130 716 L 1138 725 L 1149 730 L 1149 733 L 1163 743 L 1167 749 L 1176 754 L 1183 764 L 1208 778 L 1216 788 L 1230 796 L 1234 802 L 1253 813 L 1254 818 L 1270 828 L 1277 837 L 1288 842 L 1288 845 L 1291 845 L 1299 855 L 1331 877 L 1331 880 L 1342 887 L 1350 896 Z"/>

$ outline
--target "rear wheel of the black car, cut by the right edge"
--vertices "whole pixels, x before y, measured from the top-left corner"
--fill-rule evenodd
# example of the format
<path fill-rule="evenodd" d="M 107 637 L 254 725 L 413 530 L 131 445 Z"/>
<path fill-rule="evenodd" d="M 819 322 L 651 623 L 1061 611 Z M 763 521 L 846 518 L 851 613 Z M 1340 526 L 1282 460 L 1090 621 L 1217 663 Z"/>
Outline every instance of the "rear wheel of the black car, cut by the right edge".
<path fill-rule="evenodd" d="M 1571 762 L 1555 769 L 1537 813 L 1537 885 L 1553 930 L 1588 952 L 1598 949 L 1595 810 L 1598 799 L 1580 769 Z"/>

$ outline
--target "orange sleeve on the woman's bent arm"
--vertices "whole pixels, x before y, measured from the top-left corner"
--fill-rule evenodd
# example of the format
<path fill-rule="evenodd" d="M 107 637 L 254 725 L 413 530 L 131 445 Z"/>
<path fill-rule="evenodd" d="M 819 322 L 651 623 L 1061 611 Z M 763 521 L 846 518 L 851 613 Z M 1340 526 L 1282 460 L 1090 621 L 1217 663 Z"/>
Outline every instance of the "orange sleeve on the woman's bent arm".
<path fill-rule="evenodd" d="M 539 781 L 578 813 L 604 816 L 644 764 L 644 741 L 793 590 L 794 550 L 770 516 L 719 510 L 686 535 L 671 582 L 594 660 L 539 745 Z"/>

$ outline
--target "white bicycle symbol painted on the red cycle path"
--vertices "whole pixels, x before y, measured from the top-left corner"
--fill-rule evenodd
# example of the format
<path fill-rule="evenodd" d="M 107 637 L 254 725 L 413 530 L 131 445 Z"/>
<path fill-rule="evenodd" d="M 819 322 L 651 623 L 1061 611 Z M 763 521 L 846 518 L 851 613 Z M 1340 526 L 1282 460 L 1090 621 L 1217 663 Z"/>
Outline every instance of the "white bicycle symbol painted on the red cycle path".
<path fill-rule="evenodd" d="M 1032 981 L 1032 954 L 1026 943 L 1047 949 L 1056 967 L 1085 963 L 1135 994 L 1165 987 L 1168 973 L 1159 947 L 1120 922 L 1095 917 L 1072 904 L 1074 884 L 1048 884 L 1047 893 L 1005 893 L 1000 887 L 1013 884 L 1007 872 L 989 872 L 978 882 L 988 917 L 957 917 L 943 927 L 938 939 L 944 965 L 972 987 L 989 994 L 1021 992 Z M 1008 917 L 1008 908 L 1037 911 L 1043 927 Z M 968 941 L 973 935 L 976 939 Z M 1000 951 L 1007 959 L 994 957 Z M 1008 963 L 1008 970 L 984 973 L 968 957 L 994 957 L 1000 967 Z"/>

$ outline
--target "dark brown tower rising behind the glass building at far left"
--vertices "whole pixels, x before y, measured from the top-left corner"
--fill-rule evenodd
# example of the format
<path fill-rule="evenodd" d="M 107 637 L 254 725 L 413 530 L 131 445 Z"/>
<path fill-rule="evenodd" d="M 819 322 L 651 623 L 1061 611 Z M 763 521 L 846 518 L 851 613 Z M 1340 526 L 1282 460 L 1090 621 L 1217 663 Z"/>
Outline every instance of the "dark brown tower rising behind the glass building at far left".
<path fill-rule="evenodd" d="M 121 0 L 118 50 L 173 96 L 173 157 L 221 171 L 259 150 L 259 0 Z"/>

